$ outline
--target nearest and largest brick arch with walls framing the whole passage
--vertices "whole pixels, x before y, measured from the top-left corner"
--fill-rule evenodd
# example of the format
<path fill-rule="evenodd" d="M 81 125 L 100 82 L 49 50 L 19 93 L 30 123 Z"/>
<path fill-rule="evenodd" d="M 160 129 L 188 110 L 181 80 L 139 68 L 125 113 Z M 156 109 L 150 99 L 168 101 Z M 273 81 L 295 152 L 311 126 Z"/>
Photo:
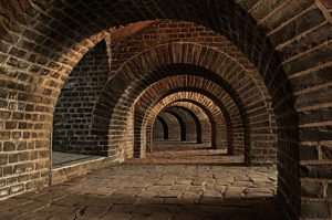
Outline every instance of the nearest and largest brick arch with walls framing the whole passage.
<path fill-rule="evenodd" d="M 291 219 L 321 214 L 323 219 L 331 218 L 326 187 L 331 177 L 323 171 L 331 166 L 321 154 L 321 149 L 324 154 L 329 151 L 331 142 L 331 9 L 328 0 L 272 3 L 268 0 L 156 0 L 152 4 L 142 0 L 2 2 L 0 158 L 2 172 L 8 175 L 1 175 L 1 190 L 21 185 L 17 181 L 20 176 L 29 176 L 23 181 L 25 188 L 11 190 L 11 195 L 35 188 L 48 178 L 45 151 L 50 149 L 56 97 L 71 70 L 98 41 L 95 34 L 146 18 L 201 23 L 240 49 L 263 77 L 259 86 L 268 87 L 276 111 L 282 203 Z M 239 62 L 246 63 L 246 59 Z M 246 66 L 252 65 L 246 63 Z M 24 116 L 18 116 L 20 113 Z M 12 175 L 10 170 L 17 163 L 9 157 L 20 153 L 17 148 L 20 142 L 27 143 L 25 153 L 30 155 L 27 160 L 22 157 L 21 165 L 32 167 L 33 164 L 34 168 Z M 4 145 L 11 150 L 6 151 Z M 116 155 L 117 150 L 113 153 Z M 320 175 L 301 172 L 303 178 L 300 179 L 300 165 L 304 170 L 314 167 Z M 307 180 L 322 184 L 324 197 L 308 195 L 304 190 L 301 197 L 300 184 Z M 315 209 L 317 206 L 324 208 Z"/>

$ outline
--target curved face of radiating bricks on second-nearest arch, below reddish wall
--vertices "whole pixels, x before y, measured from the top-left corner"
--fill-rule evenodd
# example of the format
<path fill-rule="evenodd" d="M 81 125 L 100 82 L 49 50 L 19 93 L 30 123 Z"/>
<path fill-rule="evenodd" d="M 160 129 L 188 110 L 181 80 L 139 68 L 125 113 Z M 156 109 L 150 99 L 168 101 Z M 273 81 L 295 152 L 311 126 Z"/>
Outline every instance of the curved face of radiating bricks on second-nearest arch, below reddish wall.
<path fill-rule="evenodd" d="M 177 54 L 177 51 L 180 51 L 180 53 L 186 54 L 186 56 L 179 56 L 179 55 L 176 56 L 175 54 Z M 197 54 L 195 54 L 196 52 L 197 52 Z M 204 55 L 200 54 L 200 52 L 203 52 Z M 162 54 L 169 54 L 170 57 L 163 57 Z M 200 54 L 200 55 L 198 55 L 198 54 Z M 218 60 L 218 57 L 219 57 L 220 61 L 224 61 L 224 62 L 226 62 L 226 60 L 227 60 L 227 62 L 232 61 L 231 57 L 228 57 L 222 52 L 219 52 L 217 50 L 214 50 L 214 49 L 210 49 L 207 46 L 201 46 L 198 44 L 190 44 L 190 43 L 173 43 L 173 44 L 159 45 L 159 46 L 156 46 L 152 50 L 145 51 L 144 53 L 131 59 L 126 63 L 126 65 L 123 65 L 123 67 L 116 74 L 118 77 L 116 77 L 116 76 L 112 77 L 112 80 L 105 86 L 105 94 L 104 94 L 104 96 L 101 97 L 101 102 L 96 106 L 96 111 L 95 111 L 95 115 L 96 115 L 95 122 L 96 123 L 95 124 L 100 125 L 102 122 L 107 122 L 107 118 L 111 117 L 110 116 L 111 114 L 113 114 L 113 116 L 118 118 L 118 116 L 121 116 L 125 112 L 125 111 L 123 111 L 124 107 L 128 108 L 128 106 L 122 105 L 123 103 L 129 103 L 128 101 L 120 101 L 118 102 L 120 105 L 117 107 L 121 108 L 121 111 L 116 111 L 117 107 L 115 107 L 115 105 L 116 105 L 116 101 L 120 99 L 120 96 L 121 96 L 120 94 L 122 94 L 122 91 L 125 91 L 125 87 L 126 87 L 125 82 L 131 82 L 131 81 L 134 81 L 134 78 L 139 77 L 139 75 L 137 75 L 137 72 L 139 72 L 139 73 L 147 72 L 146 75 L 149 75 L 148 77 L 151 78 L 151 75 L 153 75 L 151 73 L 151 70 L 156 69 L 154 66 L 158 65 L 158 63 L 165 63 L 165 62 L 166 63 L 198 62 L 203 66 L 207 65 L 208 67 L 217 69 L 218 71 L 221 71 L 220 66 L 210 65 L 210 62 L 209 62 L 210 59 L 206 54 L 214 54 L 214 59 Z M 159 55 L 159 57 L 158 57 L 158 55 Z M 205 57 L 205 59 L 197 60 L 198 57 Z M 216 63 L 218 63 L 218 62 L 216 62 Z M 234 64 L 237 66 L 237 63 L 234 63 Z M 229 63 L 228 63 L 226 71 L 228 71 L 229 67 L 231 67 L 231 65 L 229 65 Z M 175 66 L 173 72 L 175 72 L 175 70 L 178 70 L 178 69 L 180 69 L 180 66 Z M 235 71 L 235 72 L 239 71 L 238 74 L 229 74 L 230 77 L 232 77 L 232 78 L 235 76 L 239 76 L 239 73 L 242 73 L 241 71 L 245 71 L 245 69 L 241 66 L 230 69 L 230 70 Z M 158 71 L 162 71 L 162 70 L 158 70 Z M 186 71 L 187 72 L 197 72 L 197 70 L 195 71 L 195 69 L 194 70 L 189 69 Z M 164 72 L 165 72 L 165 70 L 164 70 Z M 206 72 L 206 71 L 203 71 L 203 72 Z M 207 76 L 212 77 L 212 73 L 211 72 L 207 73 Z M 242 75 L 240 77 L 240 80 L 243 81 L 243 84 L 247 86 L 247 88 L 242 87 L 241 84 L 237 85 L 237 86 L 240 86 L 242 88 L 242 94 L 246 97 L 245 99 L 247 99 L 247 102 L 250 103 L 248 105 L 251 105 L 252 107 L 255 107 L 257 105 L 263 105 L 266 108 L 266 117 L 270 118 L 269 119 L 269 122 L 271 122 L 270 125 L 276 125 L 276 123 L 272 123 L 273 117 L 268 116 L 268 115 L 270 115 L 271 111 L 269 109 L 268 106 L 266 106 L 267 105 L 266 99 L 263 98 L 263 95 L 262 95 L 261 91 L 259 90 L 259 87 L 256 86 L 255 82 L 250 81 L 250 76 L 247 74 Z M 251 82 L 252 84 L 250 84 L 248 82 Z M 222 83 L 225 86 L 227 86 L 227 83 L 225 83 L 225 82 L 220 82 L 220 83 Z M 228 87 L 231 87 L 231 86 L 229 86 L 229 84 L 228 84 Z M 260 97 L 252 97 L 252 96 L 250 97 L 250 95 L 246 94 L 246 92 L 253 90 L 255 87 L 258 90 L 258 92 L 255 94 L 259 95 L 259 96 L 261 95 Z M 131 93 L 131 91 L 126 91 L 126 93 L 123 94 L 123 97 L 132 98 L 131 96 L 135 96 L 134 94 L 129 94 L 129 93 Z M 231 94 L 236 96 L 235 92 L 232 92 Z M 240 98 L 236 97 L 235 99 L 239 101 Z M 112 102 L 110 103 L 110 101 L 112 101 L 113 103 Z M 252 102 L 260 102 L 260 103 L 252 103 Z M 245 106 L 245 104 L 241 104 L 240 106 Z M 115 114 L 112 113 L 112 111 L 110 111 L 110 109 L 114 109 Z M 246 112 L 246 111 L 242 111 L 242 112 Z M 101 116 L 103 116 L 104 118 Z M 118 121 L 116 119 L 115 124 Z M 113 124 L 112 121 L 110 124 Z M 108 128 L 108 126 L 106 126 L 106 125 L 103 128 L 104 133 L 105 133 L 104 136 L 106 136 L 107 128 Z M 100 133 L 100 132 L 101 130 L 98 129 L 97 133 Z M 276 132 L 276 129 L 271 128 L 269 132 L 273 133 L 273 132 Z M 92 132 L 92 133 L 94 133 L 94 132 Z M 116 136 L 118 136 L 118 135 L 121 135 L 121 134 L 116 133 Z M 105 142 L 105 140 L 103 140 L 103 142 Z M 111 140 L 111 144 L 118 147 L 118 144 L 116 144 L 115 142 Z M 117 154 L 117 153 L 115 150 L 115 153 L 112 153 L 112 154 Z"/>

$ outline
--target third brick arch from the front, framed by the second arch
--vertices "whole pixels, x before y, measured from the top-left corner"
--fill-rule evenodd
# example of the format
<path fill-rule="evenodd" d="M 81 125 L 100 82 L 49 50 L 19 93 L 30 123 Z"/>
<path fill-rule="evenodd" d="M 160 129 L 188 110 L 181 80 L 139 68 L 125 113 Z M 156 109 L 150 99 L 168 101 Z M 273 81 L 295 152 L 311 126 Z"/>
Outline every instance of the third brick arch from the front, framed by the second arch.
<path fill-rule="evenodd" d="M 168 82 L 168 83 L 166 83 Z M 243 139 L 243 130 L 242 130 L 242 121 L 241 116 L 239 114 L 239 109 L 237 109 L 236 104 L 231 102 L 231 98 L 220 88 L 218 87 L 217 84 L 214 84 L 212 82 L 209 82 L 207 80 L 204 80 L 198 76 L 193 76 L 193 75 L 183 75 L 183 76 L 172 76 L 172 77 L 166 77 L 163 81 L 159 81 L 155 84 L 153 84 L 136 102 L 135 109 L 136 109 L 136 116 L 135 116 L 135 129 L 138 130 L 144 130 L 141 126 L 145 124 L 144 118 L 151 117 L 149 111 L 158 104 L 158 102 L 172 94 L 172 91 L 175 92 L 186 92 L 190 91 L 195 87 L 197 87 L 197 83 L 200 84 L 200 92 L 207 93 L 206 95 L 209 96 L 210 98 L 214 99 L 212 103 L 208 103 L 208 105 L 217 105 L 220 108 L 221 114 L 222 114 L 222 123 L 217 124 L 217 148 L 224 148 L 227 143 L 227 134 L 226 134 L 226 127 L 229 126 L 229 130 L 231 130 L 231 137 L 230 139 L 236 139 L 236 140 L 242 140 Z M 177 91 L 180 90 L 180 91 Z M 218 94 L 220 94 L 224 97 L 224 102 L 219 102 L 218 97 L 214 96 L 214 94 L 209 94 L 207 91 L 216 91 Z M 184 96 L 185 97 L 185 96 Z M 199 99 L 199 96 L 191 96 L 191 99 Z M 172 99 L 173 101 L 173 99 Z M 226 103 L 226 106 L 224 105 Z M 229 113 L 227 109 L 231 109 L 232 112 Z M 219 116 L 220 117 L 220 116 Z M 220 122 L 220 121 L 219 121 Z M 225 122 L 228 122 L 225 123 Z M 237 124 L 238 123 L 238 124 Z M 232 128 L 238 126 L 238 128 Z M 139 134 L 139 133 L 137 133 Z M 238 135 L 238 136 L 237 136 Z M 237 136 L 237 137 L 236 137 Z M 144 136 L 143 136 L 144 138 Z M 239 139 L 237 139 L 239 138 Z M 142 142 L 145 142 L 144 139 Z M 138 143 L 137 143 L 138 144 Z M 231 143 L 229 143 L 231 145 Z M 144 147 L 144 146 L 142 146 Z M 243 142 L 241 142 L 241 145 L 236 146 L 238 149 L 243 153 L 245 146 Z M 141 149 L 137 149 L 138 151 Z"/>

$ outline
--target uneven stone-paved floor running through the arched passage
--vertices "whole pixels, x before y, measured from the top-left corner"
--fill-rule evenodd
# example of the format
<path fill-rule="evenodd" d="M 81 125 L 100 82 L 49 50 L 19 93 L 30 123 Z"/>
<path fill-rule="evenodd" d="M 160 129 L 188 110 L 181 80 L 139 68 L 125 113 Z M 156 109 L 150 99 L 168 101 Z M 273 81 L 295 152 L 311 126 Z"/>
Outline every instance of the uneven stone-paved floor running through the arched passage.
<path fill-rule="evenodd" d="M 129 160 L 10 198 L 0 202 L 0 219 L 286 219 L 273 197 L 274 167 L 228 165 L 229 159 L 208 165 L 211 150 L 187 153 L 187 164 L 184 150 L 163 148 L 148 155 L 151 159 Z M 154 164 L 158 156 L 160 164 Z"/>

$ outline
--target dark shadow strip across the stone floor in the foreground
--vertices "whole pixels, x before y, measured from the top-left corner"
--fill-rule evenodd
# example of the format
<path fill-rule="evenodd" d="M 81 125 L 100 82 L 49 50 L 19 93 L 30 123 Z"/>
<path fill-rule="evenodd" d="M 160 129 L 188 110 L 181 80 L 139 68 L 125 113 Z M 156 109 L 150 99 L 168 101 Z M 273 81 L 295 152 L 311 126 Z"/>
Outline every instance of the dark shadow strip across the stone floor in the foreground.
<path fill-rule="evenodd" d="M 59 192 L 59 191 L 58 191 Z M 61 196 L 61 195 L 58 195 Z M 136 198 L 114 195 L 64 195 L 54 200 L 51 195 L 34 197 L 34 206 L 12 206 L 0 212 L 0 219 L 52 220 L 284 220 L 282 209 L 274 198 L 199 201 L 178 198 Z M 51 198 L 52 197 L 52 198 Z M 38 203 L 39 202 L 39 203 Z M 3 202 L 2 202 L 3 203 Z M 39 205 L 39 206 L 35 206 Z M 6 206 L 4 206 L 6 207 Z M 4 211 L 4 212 L 3 212 Z"/>

